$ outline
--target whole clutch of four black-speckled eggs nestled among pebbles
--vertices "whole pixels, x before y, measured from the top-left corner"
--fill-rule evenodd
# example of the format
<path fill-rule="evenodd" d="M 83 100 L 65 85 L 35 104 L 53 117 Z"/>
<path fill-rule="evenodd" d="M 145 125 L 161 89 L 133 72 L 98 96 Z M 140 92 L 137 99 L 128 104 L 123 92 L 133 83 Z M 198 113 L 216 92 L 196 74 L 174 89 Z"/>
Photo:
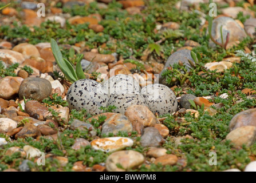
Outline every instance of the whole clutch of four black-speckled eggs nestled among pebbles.
<path fill-rule="evenodd" d="M 90 114 L 100 114 L 101 106 L 115 105 L 116 113 L 125 113 L 128 106 L 144 105 L 153 113 L 175 112 L 178 101 L 172 90 L 162 84 L 151 84 L 140 89 L 139 83 L 131 76 L 118 74 L 103 83 L 92 79 L 80 79 L 68 90 L 67 101 L 70 109 L 86 109 Z"/>

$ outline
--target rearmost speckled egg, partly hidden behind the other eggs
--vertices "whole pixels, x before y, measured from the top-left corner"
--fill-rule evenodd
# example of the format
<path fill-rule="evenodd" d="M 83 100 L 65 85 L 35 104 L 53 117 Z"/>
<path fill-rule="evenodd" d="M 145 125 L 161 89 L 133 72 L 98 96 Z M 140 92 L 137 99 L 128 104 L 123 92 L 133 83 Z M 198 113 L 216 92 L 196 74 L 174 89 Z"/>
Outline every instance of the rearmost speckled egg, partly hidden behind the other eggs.
<path fill-rule="evenodd" d="M 109 94 L 113 94 L 122 90 L 128 90 L 129 93 L 140 93 L 139 83 L 132 76 L 125 74 L 117 74 L 112 76 L 103 83 L 103 87 L 108 91 Z"/>

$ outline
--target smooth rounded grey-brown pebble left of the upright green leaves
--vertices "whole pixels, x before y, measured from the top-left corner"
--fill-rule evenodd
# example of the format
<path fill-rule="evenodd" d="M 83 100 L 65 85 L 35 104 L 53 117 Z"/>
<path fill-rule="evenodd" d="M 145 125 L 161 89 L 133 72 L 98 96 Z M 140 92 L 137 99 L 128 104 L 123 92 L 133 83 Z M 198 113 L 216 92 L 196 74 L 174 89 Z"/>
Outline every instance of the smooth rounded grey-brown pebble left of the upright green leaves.
<path fill-rule="evenodd" d="M 51 83 L 43 78 L 26 78 L 19 87 L 19 98 L 31 98 L 42 101 L 52 93 Z"/>

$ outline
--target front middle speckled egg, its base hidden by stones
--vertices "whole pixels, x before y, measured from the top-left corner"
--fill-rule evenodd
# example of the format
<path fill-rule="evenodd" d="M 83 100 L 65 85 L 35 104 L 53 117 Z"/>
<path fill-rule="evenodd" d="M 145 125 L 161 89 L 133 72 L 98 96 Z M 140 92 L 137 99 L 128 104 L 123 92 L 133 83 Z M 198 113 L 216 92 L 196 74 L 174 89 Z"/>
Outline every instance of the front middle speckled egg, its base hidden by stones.
<path fill-rule="evenodd" d="M 115 105 L 117 109 L 113 110 L 115 113 L 124 114 L 126 109 L 131 105 L 148 106 L 145 98 L 140 93 L 114 93 L 109 98 L 108 105 Z"/>

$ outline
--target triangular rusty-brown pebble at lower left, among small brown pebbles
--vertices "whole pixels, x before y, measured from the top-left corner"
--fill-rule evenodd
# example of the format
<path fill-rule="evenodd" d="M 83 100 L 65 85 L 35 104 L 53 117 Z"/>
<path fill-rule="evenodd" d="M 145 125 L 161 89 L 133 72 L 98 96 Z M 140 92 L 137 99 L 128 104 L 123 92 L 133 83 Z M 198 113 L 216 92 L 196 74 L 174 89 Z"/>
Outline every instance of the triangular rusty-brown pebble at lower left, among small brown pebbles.
<path fill-rule="evenodd" d="M 36 138 L 38 136 L 41 136 L 40 130 L 32 124 L 26 123 L 22 130 L 15 135 L 15 139 L 26 137 Z"/>

